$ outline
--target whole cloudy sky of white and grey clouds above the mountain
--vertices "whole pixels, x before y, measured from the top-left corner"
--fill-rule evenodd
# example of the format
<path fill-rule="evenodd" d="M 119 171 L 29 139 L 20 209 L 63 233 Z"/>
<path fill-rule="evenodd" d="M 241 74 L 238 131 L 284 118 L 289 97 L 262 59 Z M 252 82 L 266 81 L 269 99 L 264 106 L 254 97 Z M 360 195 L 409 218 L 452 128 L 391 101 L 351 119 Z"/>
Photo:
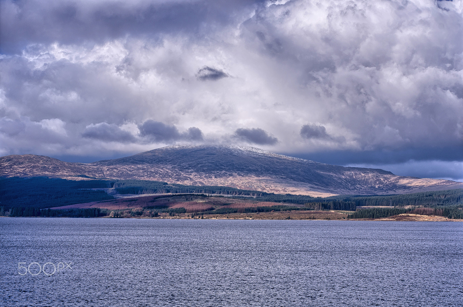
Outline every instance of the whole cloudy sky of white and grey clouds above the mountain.
<path fill-rule="evenodd" d="M 0 155 L 235 144 L 463 181 L 462 9 L 0 0 Z"/>

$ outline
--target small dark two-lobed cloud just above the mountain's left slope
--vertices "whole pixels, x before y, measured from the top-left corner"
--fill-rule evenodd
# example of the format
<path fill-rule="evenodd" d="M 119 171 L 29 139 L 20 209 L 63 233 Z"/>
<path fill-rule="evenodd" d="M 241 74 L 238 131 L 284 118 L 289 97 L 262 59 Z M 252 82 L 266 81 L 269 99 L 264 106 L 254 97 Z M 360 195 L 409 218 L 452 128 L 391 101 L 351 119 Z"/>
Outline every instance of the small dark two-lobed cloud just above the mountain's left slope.
<path fill-rule="evenodd" d="M 172 125 L 166 125 L 163 122 L 147 120 L 138 126 L 140 135 L 154 142 L 172 142 L 172 141 L 202 141 L 203 134 L 199 128 L 190 127 L 184 133 Z"/>

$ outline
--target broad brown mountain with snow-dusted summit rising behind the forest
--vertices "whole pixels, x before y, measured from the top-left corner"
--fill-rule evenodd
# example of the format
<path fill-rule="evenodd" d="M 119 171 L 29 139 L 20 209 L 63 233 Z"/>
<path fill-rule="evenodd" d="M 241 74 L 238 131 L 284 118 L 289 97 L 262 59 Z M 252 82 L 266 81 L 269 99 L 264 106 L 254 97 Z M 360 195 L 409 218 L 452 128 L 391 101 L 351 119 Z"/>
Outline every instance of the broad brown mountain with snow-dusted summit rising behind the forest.
<path fill-rule="evenodd" d="M 463 183 L 450 180 L 396 176 L 382 169 L 335 166 L 227 145 L 173 145 L 93 163 L 9 155 L 0 157 L 0 176 L 161 180 L 313 196 L 402 194 L 463 187 Z"/>

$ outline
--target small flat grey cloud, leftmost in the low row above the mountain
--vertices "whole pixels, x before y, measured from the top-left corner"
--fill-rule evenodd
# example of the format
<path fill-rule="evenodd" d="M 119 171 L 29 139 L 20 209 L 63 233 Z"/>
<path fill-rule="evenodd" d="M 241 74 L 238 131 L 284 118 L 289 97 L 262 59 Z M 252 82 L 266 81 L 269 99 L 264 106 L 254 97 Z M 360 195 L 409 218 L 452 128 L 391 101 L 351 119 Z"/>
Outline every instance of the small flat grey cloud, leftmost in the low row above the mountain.
<path fill-rule="evenodd" d="M 82 136 L 101 141 L 117 141 L 121 143 L 135 141 L 135 137 L 130 132 L 122 130 L 115 124 L 108 124 L 106 122 L 87 126 Z"/>

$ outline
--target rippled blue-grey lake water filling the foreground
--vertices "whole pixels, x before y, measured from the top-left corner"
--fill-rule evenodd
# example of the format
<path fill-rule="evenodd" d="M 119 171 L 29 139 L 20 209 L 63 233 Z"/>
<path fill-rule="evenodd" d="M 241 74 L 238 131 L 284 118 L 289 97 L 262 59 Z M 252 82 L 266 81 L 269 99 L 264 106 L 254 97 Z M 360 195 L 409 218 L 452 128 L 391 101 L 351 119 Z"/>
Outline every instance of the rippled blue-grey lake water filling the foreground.
<path fill-rule="evenodd" d="M 17 217 L 0 229 L 1 306 L 463 304 L 461 222 Z M 51 262 L 49 275 L 18 262 Z"/>

